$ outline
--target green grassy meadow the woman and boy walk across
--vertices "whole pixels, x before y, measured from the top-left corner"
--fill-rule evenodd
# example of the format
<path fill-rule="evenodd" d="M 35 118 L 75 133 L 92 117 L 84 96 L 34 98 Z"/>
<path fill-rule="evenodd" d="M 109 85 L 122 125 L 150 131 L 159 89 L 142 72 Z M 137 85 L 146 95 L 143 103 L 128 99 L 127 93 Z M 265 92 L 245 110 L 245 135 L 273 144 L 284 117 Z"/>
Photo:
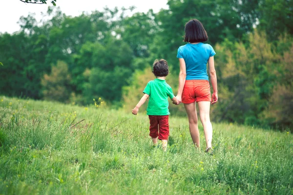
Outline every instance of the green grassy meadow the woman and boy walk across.
<path fill-rule="evenodd" d="M 0 97 L 0 194 L 293 194 L 289 131 L 213 124 L 208 156 L 169 123 L 164 153 L 142 112 Z"/>

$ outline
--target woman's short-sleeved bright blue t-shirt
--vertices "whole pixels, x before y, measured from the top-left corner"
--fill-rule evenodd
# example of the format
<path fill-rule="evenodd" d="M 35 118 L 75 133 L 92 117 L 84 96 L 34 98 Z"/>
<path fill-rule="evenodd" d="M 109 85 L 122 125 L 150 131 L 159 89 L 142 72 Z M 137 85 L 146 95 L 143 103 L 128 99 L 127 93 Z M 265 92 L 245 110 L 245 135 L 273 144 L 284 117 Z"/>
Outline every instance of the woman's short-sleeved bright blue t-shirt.
<path fill-rule="evenodd" d="M 177 58 L 183 58 L 186 64 L 186 80 L 209 80 L 207 62 L 216 53 L 206 43 L 187 43 L 178 48 Z"/>

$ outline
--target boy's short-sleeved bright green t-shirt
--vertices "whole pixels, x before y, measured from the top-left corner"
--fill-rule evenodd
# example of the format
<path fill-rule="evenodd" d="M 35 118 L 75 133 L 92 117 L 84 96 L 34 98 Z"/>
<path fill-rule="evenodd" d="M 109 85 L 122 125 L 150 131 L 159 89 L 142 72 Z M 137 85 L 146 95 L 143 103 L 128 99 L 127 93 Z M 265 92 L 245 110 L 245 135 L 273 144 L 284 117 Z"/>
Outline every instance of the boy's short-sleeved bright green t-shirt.
<path fill-rule="evenodd" d="M 149 95 L 147 115 L 164 116 L 170 114 L 168 97 L 174 98 L 174 94 L 166 80 L 156 78 L 149 81 L 144 93 Z"/>

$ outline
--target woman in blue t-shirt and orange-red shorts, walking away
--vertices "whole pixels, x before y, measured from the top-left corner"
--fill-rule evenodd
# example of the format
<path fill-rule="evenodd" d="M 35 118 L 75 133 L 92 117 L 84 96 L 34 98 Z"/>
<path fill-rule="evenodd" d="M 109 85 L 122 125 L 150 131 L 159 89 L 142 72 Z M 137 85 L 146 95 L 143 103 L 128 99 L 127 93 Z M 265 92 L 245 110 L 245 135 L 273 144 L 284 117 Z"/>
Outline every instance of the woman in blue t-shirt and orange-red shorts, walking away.
<path fill-rule="evenodd" d="M 195 102 L 197 102 L 206 138 L 206 152 L 212 155 L 212 126 L 209 120 L 209 107 L 210 104 L 217 102 L 218 94 L 213 58 L 216 53 L 209 44 L 202 43 L 207 40 L 207 32 L 199 20 L 189 20 L 186 23 L 184 41 L 188 43 L 180 46 L 177 51 L 180 74 L 176 98 L 179 102 L 184 103 L 188 115 L 190 135 L 195 146 L 199 148 L 198 119 L 195 106 Z M 209 76 L 213 87 L 211 98 L 207 62 L 209 63 Z"/>

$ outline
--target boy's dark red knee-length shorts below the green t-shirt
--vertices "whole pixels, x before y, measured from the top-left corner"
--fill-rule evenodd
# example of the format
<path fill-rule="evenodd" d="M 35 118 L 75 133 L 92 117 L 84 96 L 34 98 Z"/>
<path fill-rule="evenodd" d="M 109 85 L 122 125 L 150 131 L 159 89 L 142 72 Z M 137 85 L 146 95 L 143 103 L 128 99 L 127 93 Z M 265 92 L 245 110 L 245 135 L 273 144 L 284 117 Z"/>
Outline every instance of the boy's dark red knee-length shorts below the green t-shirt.
<path fill-rule="evenodd" d="M 169 137 L 169 116 L 149 115 L 149 136 L 152 138 L 168 140 Z M 158 128 L 159 126 L 159 128 Z"/>

